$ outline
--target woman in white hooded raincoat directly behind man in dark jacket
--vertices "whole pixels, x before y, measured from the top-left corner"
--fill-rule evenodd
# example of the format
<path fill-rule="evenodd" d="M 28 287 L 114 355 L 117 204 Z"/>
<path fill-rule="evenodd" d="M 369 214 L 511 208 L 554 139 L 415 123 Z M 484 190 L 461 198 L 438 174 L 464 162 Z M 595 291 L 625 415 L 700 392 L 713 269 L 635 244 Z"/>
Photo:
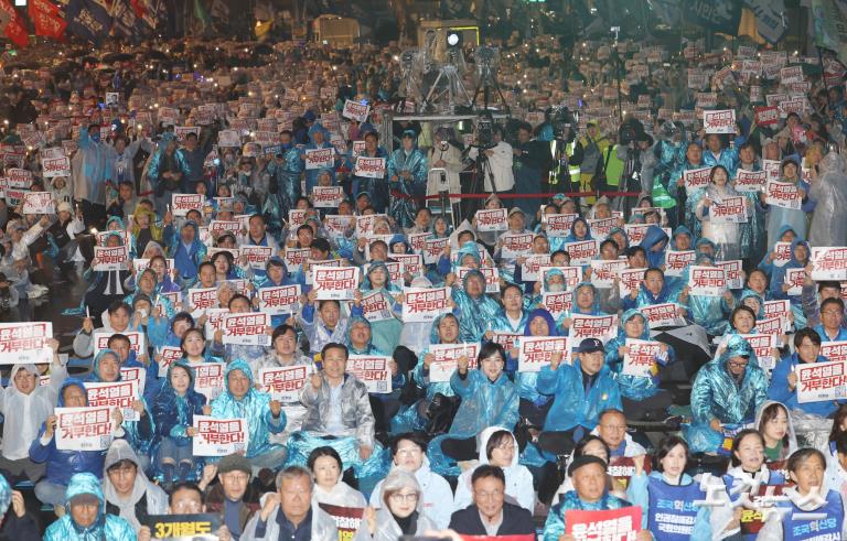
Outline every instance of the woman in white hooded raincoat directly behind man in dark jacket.
<path fill-rule="evenodd" d="M 506 501 L 532 512 L 535 508 L 533 474 L 526 466 L 519 465 L 517 458 L 517 440 L 512 432 L 497 426 L 483 430 L 480 433 L 479 461 L 459 476 L 453 509 L 459 511 L 473 502 L 473 472 L 487 464 L 503 469 L 506 477 Z"/>

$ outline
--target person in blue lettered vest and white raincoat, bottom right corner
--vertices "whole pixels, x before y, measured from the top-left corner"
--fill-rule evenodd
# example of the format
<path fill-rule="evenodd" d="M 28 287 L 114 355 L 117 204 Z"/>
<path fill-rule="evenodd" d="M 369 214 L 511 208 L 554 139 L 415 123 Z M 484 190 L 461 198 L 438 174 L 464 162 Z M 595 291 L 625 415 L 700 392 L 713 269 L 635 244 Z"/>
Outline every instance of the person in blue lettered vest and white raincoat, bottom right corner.
<path fill-rule="evenodd" d="M 826 457 L 811 447 L 796 451 L 789 458 L 789 478 L 794 486 L 768 513 L 758 540 L 844 539 L 847 535 L 844 499 L 838 490 L 825 485 Z"/>

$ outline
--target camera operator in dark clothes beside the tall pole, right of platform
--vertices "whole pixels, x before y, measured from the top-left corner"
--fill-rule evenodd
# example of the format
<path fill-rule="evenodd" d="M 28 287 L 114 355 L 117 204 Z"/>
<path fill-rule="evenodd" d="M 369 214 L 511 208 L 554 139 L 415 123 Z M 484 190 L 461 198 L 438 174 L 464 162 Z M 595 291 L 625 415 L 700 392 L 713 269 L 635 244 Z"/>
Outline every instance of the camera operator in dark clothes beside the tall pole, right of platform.
<path fill-rule="evenodd" d="M 612 206 L 623 212 L 624 218 L 629 219 L 630 210 L 641 196 L 653 193 L 653 169 L 657 160 L 653 153 L 653 138 L 637 120 L 624 120 L 619 138 L 621 144 L 618 147 L 618 158 L 624 162 L 619 187 L 621 192 L 637 192 L 639 197 L 615 197 Z"/>

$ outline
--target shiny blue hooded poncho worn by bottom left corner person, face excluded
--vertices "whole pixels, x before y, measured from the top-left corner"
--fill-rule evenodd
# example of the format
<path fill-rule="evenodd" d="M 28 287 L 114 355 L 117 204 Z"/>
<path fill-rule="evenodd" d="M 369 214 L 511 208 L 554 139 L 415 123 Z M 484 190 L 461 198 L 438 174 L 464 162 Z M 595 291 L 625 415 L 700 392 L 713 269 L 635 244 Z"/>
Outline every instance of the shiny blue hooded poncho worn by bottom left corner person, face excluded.
<path fill-rule="evenodd" d="M 99 507 L 97 519 L 87 528 L 81 528 L 69 512 L 71 501 L 75 496 L 90 495 L 97 498 Z M 100 482 L 92 474 L 76 474 L 71 478 L 65 493 L 65 507 L 68 512 L 56 520 L 44 532 L 44 541 L 135 541 L 132 526 L 120 517 L 106 513 L 106 498 L 103 496 Z"/>

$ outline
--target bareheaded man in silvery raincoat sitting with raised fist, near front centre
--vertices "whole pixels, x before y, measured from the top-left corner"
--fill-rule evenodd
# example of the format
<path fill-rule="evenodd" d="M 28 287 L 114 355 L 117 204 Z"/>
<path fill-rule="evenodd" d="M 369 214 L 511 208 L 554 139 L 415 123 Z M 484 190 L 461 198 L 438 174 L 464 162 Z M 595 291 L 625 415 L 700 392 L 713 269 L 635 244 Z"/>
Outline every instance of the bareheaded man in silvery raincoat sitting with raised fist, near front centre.
<path fill-rule="evenodd" d="M 374 453 L 374 413 L 367 387 L 346 374 L 347 356 L 343 344 L 323 346 L 323 369 L 300 391 L 307 412 L 302 429 L 288 440 L 290 464 L 305 464 L 309 454 L 324 445 L 333 447 L 345 466 L 358 467 Z"/>

